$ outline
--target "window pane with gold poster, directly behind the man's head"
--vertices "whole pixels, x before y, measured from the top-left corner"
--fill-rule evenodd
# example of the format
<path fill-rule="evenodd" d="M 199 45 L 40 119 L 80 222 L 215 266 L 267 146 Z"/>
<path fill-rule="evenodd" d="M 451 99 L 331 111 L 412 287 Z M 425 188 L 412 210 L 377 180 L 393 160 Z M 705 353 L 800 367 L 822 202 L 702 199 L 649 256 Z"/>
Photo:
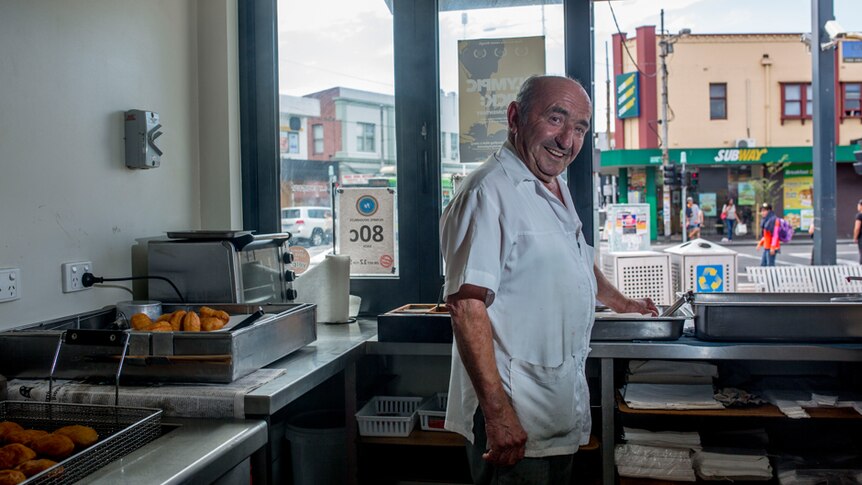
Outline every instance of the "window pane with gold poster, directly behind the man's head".
<path fill-rule="evenodd" d="M 505 140 L 506 108 L 523 79 L 565 72 L 563 5 L 536 3 L 439 13 L 444 202 L 453 178 L 457 188 L 457 180 L 481 165 Z M 541 65 L 544 69 L 534 67 Z M 516 85 L 504 84 L 509 79 L 516 80 Z M 447 145 L 448 157 L 443 156 Z"/>

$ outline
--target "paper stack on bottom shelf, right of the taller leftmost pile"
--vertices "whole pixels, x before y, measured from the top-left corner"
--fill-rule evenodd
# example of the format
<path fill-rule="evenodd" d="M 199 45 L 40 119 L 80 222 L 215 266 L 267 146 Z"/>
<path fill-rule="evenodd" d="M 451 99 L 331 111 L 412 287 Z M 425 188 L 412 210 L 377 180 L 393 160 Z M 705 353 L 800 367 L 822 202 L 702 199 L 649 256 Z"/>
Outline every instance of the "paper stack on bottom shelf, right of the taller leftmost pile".
<path fill-rule="evenodd" d="M 704 480 L 770 480 L 772 466 L 763 451 L 714 450 L 694 454 L 694 469 Z"/>

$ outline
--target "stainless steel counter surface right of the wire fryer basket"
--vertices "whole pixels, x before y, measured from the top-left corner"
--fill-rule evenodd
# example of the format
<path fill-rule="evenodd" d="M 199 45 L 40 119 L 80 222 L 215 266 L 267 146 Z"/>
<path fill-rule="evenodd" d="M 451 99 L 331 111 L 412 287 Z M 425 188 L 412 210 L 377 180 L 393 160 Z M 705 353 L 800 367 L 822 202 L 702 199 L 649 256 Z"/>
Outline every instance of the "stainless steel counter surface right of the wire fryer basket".
<path fill-rule="evenodd" d="M 178 426 L 79 483 L 211 483 L 263 447 L 267 439 L 266 423 L 259 420 L 166 418 L 164 424 Z"/>

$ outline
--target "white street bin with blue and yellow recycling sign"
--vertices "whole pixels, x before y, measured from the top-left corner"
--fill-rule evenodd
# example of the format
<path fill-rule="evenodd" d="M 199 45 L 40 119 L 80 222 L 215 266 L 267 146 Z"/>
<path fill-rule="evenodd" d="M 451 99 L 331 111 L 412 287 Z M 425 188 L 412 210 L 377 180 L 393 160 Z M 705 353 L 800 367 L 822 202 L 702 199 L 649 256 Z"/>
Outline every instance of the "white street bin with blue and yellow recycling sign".
<path fill-rule="evenodd" d="M 719 293 L 736 291 L 736 251 L 705 239 L 671 246 L 673 292 Z"/>

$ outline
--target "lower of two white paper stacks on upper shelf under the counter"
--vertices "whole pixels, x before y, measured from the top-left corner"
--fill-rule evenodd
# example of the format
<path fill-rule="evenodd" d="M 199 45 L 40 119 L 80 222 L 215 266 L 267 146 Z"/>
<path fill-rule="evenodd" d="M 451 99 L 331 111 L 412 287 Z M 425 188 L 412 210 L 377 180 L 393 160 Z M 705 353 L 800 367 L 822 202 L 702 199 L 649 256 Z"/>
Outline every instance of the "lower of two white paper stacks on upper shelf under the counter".
<path fill-rule="evenodd" d="M 712 384 L 627 384 L 623 399 L 632 409 L 723 409 Z"/>

